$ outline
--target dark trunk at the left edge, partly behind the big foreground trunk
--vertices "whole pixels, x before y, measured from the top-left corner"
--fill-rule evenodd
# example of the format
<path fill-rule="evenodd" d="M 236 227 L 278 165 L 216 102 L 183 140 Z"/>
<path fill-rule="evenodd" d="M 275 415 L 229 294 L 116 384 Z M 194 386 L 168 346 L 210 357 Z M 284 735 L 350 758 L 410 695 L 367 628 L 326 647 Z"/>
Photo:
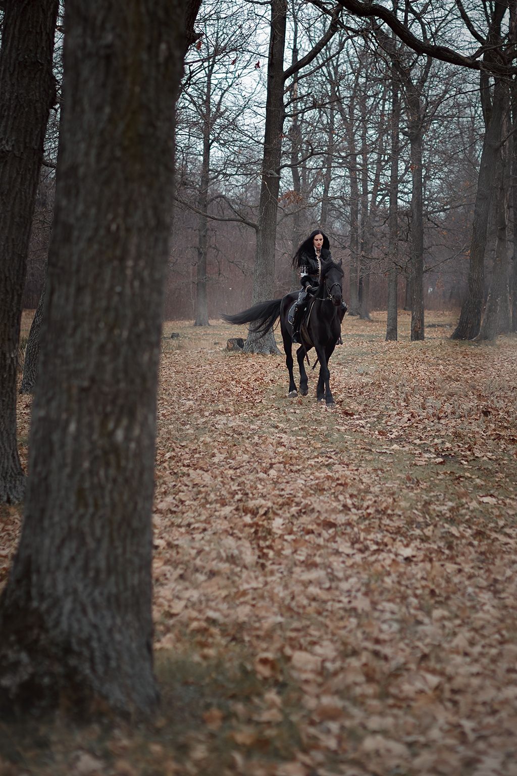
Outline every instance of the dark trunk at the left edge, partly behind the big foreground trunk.
<path fill-rule="evenodd" d="M 3 5 L 0 48 L 0 502 L 20 501 L 16 366 L 22 292 L 43 139 L 55 98 L 57 0 Z"/>

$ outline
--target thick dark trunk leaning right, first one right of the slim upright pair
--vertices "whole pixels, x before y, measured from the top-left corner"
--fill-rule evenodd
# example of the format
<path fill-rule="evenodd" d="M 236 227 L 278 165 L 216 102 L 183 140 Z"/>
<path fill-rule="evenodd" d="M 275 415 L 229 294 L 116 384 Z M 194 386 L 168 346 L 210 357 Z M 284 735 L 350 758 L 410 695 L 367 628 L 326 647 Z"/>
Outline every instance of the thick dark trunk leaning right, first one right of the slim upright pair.
<path fill-rule="evenodd" d="M 501 138 L 505 88 L 501 78 L 495 78 L 491 117 L 484 136 L 479 175 L 477 177 L 477 192 L 470 241 L 468 292 L 467 298 L 461 307 L 460 320 L 451 335 L 452 339 L 474 339 L 479 333 L 481 326 L 484 299 L 484 251 L 487 244 L 488 217 L 494 170 L 497 166 L 498 144 Z"/>

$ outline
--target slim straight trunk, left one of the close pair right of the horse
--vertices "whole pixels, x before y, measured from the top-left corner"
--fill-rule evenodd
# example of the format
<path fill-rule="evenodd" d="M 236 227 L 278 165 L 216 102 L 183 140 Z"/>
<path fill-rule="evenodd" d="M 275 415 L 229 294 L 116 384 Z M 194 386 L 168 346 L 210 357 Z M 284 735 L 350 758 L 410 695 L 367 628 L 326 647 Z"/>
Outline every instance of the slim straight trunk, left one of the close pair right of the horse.
<path fill-rule="evenodd" d="M 398 338 L 398 153 L 400 145 L 400 99 L 395 74 L 391 78 L 391 165 L 388 212 L 388 322 L 386 340 Z"/>

